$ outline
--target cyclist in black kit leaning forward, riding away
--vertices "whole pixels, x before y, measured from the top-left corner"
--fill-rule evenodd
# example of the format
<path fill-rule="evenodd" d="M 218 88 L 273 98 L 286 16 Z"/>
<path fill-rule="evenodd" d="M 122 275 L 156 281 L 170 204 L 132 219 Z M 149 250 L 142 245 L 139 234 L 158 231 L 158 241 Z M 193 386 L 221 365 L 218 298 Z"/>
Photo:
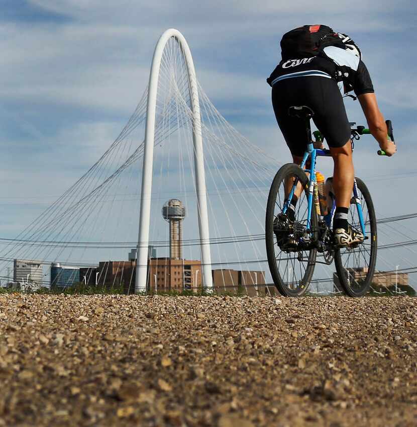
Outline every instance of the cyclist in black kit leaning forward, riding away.
<path fill-rule="evenodd" d="M 335 33 L 325 25 L 298 27 L 284 34 L 280 44 L 282 60 L 267 78 L 272 87 L 272 105 L 279 128 L 293 162 L 300 164 L 309 141 L 304 120 L 289 116 L 288 108 L 307 106 L 314 112 L 312 119 L 326 138 L 334 160 L 335 244 L 348 246 L 361 242 L 363 234 L 353 230 L 348 223 L 354 168 L 350 124 L 341 90 L 345 94 L 355 92 L 369 129 L 381 149 L 388 156 L 396 151 L 395 144 L 387 138 L 385 120 L 378 108 L 361 51 L 349 36 Z M 295 219 L 297 200 L 296 192 L 287 211 L 291 221 Z"/>

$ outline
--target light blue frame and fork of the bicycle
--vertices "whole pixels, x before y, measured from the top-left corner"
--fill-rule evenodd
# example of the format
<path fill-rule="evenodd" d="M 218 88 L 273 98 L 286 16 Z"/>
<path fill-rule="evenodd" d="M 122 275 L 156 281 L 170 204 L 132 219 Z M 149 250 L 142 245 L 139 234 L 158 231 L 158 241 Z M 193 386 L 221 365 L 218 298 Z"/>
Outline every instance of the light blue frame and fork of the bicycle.
<path fill-rule="evenodd" d="M 308 198 L 307 198 L 307 202 L 308 202 L 307 230 L 310 230 L 310 228 L 311 228 L 311 212 L 313 209 L 314 186 L 317 185 L 316 161 L 317 161 L 317 157 L 320 157 L 320 156 L 330 157 L 331 156 L 330 150 L 314 148 L 314 145 L 312 143 L 310 143 L 307 146 L 307 151 L 305 151 L 303 158 L 302 158 L 301 165 L 300 165 L 301 169 L 304 169 L 305 163 L 308 160 L 308 157 L 310 157 L 310 170 L 309 170 L 310 177 L 309 177 L 309 181 L 308 181 Z M 284 207 L 282 209 L 282 213 L 284 213 L 284 214 L 286 213 L 286 211 L 288 209 L 288 205 L 292 199 L 292 196 L 294 195 L 297 184 L 298 184 L 297 181 L 295 181 L 294 185 L 292 186 L 291 192 L 287 198 L 287 201 L 284 204 Z M 363 233 L 364 237 L 366 237 L 365 223 L 363 220 L 361 199 L 358 196 L 358 186 L 356 184 L 356 179 L 354 179 L 354 181 L 353 181 L 353 199 L 355 201 L 356 209 L 358 211 L 358 217 L 359 217 L 359 222 L 361 225 L 362 233 Z M 325 216 L 326 223 L 329 227 L 331 227 L 331 225 L 332 225 L 335 210 L 336 210 L 336 201 L 333 200 L 332 209 L 331 209 L 330 213 Z"/>

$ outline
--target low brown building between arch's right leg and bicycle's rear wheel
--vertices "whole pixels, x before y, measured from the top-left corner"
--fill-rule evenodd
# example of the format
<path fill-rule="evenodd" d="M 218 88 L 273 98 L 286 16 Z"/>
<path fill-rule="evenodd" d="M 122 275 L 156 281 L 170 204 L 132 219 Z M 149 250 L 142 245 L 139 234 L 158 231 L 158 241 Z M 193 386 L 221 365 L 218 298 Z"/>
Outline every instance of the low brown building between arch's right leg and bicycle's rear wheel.
<path fill-rule="evenodd" d="M 264 271 L 213 270 L 213 285 L 218 293 L 265 295 Z"/>

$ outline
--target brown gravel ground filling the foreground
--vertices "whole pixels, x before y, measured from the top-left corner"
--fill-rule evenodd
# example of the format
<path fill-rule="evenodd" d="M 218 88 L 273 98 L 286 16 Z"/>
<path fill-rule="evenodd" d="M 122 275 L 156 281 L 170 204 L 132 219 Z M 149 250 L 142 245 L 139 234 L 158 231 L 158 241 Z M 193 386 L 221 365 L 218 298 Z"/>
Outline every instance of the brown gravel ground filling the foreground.
<path fill-rule="evenodd" d="M 417 299 L 0 295 L 0 426 L 415 426 Z"/>

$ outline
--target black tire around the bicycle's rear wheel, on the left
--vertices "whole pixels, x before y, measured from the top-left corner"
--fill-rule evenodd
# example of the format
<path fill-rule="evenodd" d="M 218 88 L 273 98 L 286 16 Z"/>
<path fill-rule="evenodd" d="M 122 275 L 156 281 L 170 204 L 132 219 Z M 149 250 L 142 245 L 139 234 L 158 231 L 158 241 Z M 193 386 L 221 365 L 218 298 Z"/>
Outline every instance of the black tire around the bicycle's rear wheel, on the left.
<path fill-rule="evenodd" d="M 274 234 L 274 220 L 277 217 L 277 214 L 275 214 L 276 205 L 277 205 L 276 203 L 277 195 L 279 194 L 280 187 L 283 186 L 285 178 L 289 176 L 297 177 L 299 179 L 304 189 L 304 191 L 301 193 L 301 196 L 303 194 L 305 196 L 308 195 L 308 178 L 304 170 L 302 170 L 299 166 L 297 166 L 294 163 L 284 164 L 275 175 L 275 178 L 271 185 L 271 189 L 269 191 L 268 202 L 266 207 L 266 218 L 265 218 L 265 243 L 266 243 L 266 253 L 267 253 L 269 270 L 271 272 L 272 280 L 274 281 L 275 287 L 277 288 L 277 290 L 281 295 L 287 296 L 287 297 L 294 297 L 294 296 L 303 295 L 308 289 L 308 285 L 310 283 L 311 277 L 315 269 L 317 249 L 314 248 L 308 251 L 307 265 L 306 265 L 304 274 L 302 274 L 302 270 L 300 266 L 300 273 L 301 273 L 300 276 L 302 275 L 302 279 L 299 283 L 299 286 L 297 286 L 296 289 L 289 289 L 288 286 L 285 285 L 285 282 L 279 272 L 279 266 L 277 265 L 278 257 L 275 254 L 275 248 L 276 247 L 278 249 L 280 248 L 278 246 L 278 242 L 276 241 L 277 238 Z M 283 190 L 283 187 L 282 187 L 282 190 Z M 279 208 L 280 207 L 278 206 L 278 209 Z M 299 212 L 299 208 L 298 208 L 298 212 Z M 306 221 L 306 214 L 305 214 L 305 221 Z M 311 212 L 311 231 L 312 231 L 311 235 L 313 240 L 317 239 L 317 235 L 318 235 L 317 230 L 318 230 L 318 216 L 317 216 L 316 209 L 313 206 L 313 209 Z M 279 261 L 281 261 L 281 258 Z M 287 267 L 288 267 L 288 261 L 287 261 Z M 295 268 L 293 268 L 293 271 L 294 270 Z M 285 276 L 285 271 L 283 275 Z M 287 280 L 287 283 L 289 283 L 288 280 Z"/>

